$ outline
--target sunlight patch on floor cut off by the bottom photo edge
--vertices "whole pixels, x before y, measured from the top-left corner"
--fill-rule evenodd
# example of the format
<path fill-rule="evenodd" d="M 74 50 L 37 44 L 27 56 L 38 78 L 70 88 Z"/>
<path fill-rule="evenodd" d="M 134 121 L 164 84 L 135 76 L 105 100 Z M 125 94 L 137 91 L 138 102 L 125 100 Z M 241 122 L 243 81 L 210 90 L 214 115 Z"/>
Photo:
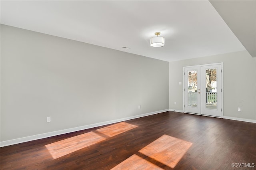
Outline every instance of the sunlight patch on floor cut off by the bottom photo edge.
<path fill-rule="evenodd" d="M 111 170 L 163 170 L 140 156 L 133 154 Z"/>

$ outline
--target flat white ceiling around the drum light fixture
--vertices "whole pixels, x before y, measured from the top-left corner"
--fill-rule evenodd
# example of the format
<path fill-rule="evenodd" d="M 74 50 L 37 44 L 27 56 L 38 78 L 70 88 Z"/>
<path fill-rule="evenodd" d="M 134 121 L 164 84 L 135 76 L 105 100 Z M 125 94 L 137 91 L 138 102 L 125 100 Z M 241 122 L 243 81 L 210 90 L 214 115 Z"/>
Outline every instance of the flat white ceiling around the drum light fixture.
<path fill-rule="evenodd" d="M 245 50 L 208 0 L 2 0 L 1 24 L 164 61 Z M 164 47 L 150 47 L 155 32 Z"/>

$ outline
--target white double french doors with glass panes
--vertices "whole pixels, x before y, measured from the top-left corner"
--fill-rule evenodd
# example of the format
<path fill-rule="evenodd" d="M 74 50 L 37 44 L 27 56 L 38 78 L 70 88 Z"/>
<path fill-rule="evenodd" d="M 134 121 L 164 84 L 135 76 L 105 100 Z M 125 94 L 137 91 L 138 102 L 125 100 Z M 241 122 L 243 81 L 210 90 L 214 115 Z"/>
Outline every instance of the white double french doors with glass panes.
<path fill-rule="evenodd" d="M 184 112 L 222 117 L 222 63 L 184 67 Z"/>

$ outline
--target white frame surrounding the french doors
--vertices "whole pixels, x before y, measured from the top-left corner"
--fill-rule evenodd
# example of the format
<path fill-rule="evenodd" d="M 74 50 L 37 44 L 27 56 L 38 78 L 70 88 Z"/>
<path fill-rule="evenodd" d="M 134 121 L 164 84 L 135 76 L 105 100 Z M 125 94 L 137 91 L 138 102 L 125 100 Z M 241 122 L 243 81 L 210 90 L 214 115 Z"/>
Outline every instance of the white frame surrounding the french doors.
<path fill-rule="evenodd" d="M 185 108 L 185 68 L 192 68 L 192 67 L 202 67 L 202 66 L 211 66 L 211 65 L 221 65 L 221 118 L 223 118 L 223 62 L 222 63 L 210 63 L 210 64 L 202 64 L 202 65 L 190 65 L 190 66 L 185 66 L 183 67 L 183 113 L 184 112 L 184 108 Z M 194 114 L 194 115 L 202 115 L 202 114 L 196 114 L 196 113 L 189 113 L 189 114 Z M 209 117 L 214 117 L 214 116 L 210 116 L 210 115 L 203 115 L 203 116 L 209 116 Z"/>

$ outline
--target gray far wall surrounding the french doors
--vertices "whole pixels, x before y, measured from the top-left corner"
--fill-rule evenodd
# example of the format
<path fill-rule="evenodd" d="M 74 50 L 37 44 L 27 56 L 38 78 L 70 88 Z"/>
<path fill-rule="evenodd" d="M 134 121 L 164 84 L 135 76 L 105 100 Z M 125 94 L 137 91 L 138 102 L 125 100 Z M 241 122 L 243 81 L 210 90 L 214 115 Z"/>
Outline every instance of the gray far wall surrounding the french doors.
<path fill-rule="evenodd" d="M 178 85 L 182 81 L 183 67 L 220 62 L 223 62 L 224 71 L 224 117 L 256 120 L 256 58 L 247 51 L 170 62 L 170 109 L 183 110 L 183 86 Z M 241 107 L 240 112 L 238 107 Z"/>

